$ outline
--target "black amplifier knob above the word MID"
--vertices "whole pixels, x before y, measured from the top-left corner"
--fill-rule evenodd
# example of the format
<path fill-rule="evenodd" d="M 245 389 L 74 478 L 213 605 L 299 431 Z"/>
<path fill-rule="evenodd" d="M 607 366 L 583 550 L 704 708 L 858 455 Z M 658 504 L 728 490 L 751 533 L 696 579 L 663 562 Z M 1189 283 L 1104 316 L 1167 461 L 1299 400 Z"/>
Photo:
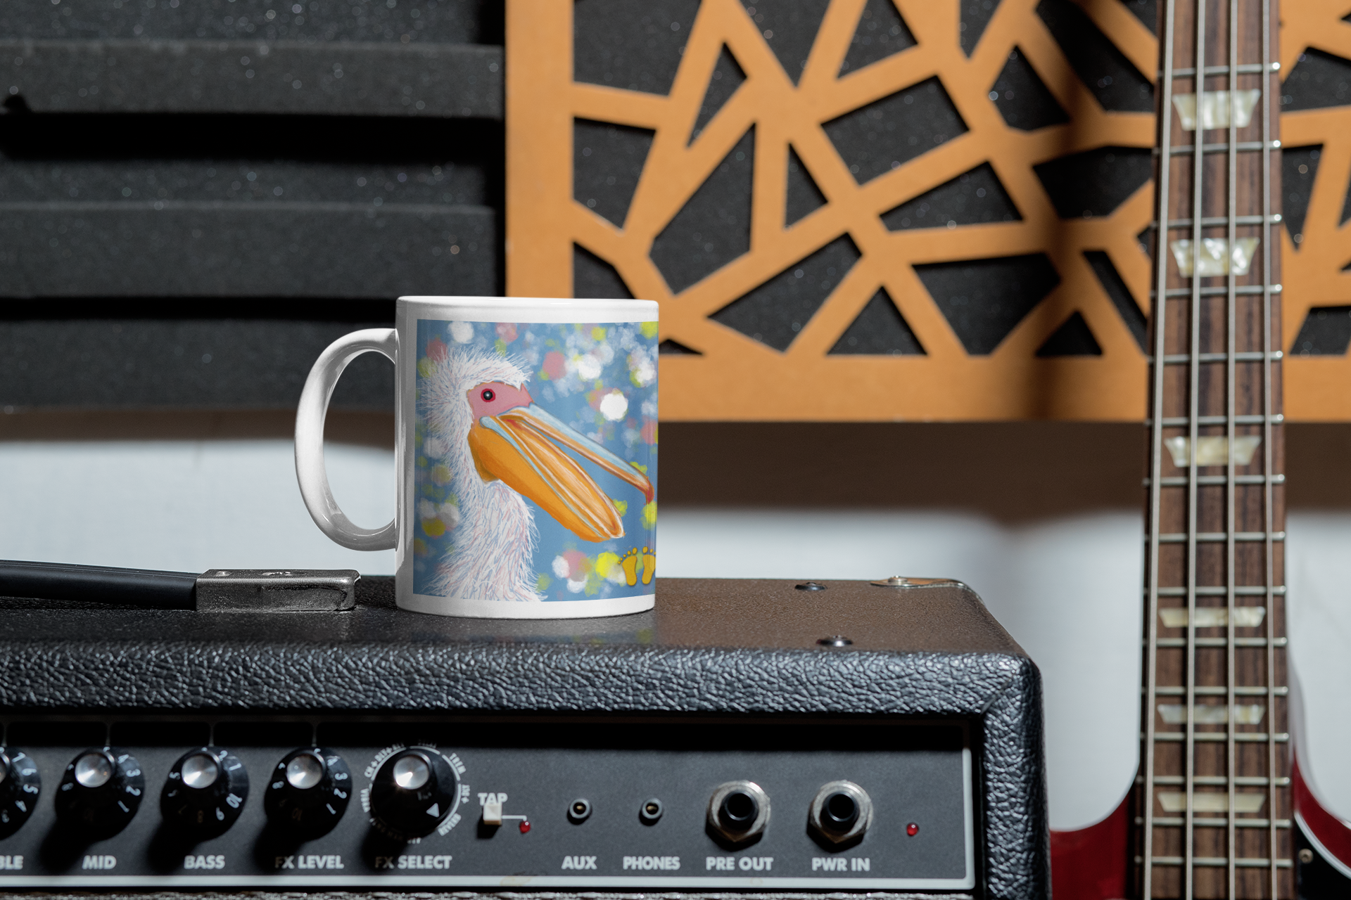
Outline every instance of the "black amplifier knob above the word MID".
<path fill-rule="evenodd" d="M 136 815 L 145 792 L 146 777 L 136 757 L 118 748 L 89 748 L 61 776 L 57 818 L 91 837 L 111 837 Z"/>

